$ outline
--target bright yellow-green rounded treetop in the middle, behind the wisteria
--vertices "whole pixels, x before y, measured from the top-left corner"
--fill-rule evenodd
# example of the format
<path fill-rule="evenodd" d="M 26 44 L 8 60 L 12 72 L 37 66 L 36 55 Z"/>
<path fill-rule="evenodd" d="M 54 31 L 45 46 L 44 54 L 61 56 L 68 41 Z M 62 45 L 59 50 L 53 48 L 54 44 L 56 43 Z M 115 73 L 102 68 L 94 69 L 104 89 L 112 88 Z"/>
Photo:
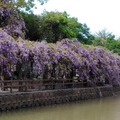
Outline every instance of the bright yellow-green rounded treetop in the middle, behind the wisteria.
<path fill-rule="evenodd" d="M 42 39 L 48 42 L 76 37 L 80 31 L 77 19 L 70 18 L 66 12 L 44 12 L 41 16 L 40 28 Z"/>

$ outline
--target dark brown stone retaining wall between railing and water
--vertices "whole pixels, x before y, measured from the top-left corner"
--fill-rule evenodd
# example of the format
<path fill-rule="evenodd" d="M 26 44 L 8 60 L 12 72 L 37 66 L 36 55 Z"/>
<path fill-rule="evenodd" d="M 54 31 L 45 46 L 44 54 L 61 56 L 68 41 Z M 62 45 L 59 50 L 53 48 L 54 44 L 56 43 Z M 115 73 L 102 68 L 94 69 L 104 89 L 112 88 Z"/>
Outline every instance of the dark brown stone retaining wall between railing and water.
<path fill-rule="evenodd" d="M 0 94 L 0 111 L 113 96 L 120 87 L 90 87 Z"/>

